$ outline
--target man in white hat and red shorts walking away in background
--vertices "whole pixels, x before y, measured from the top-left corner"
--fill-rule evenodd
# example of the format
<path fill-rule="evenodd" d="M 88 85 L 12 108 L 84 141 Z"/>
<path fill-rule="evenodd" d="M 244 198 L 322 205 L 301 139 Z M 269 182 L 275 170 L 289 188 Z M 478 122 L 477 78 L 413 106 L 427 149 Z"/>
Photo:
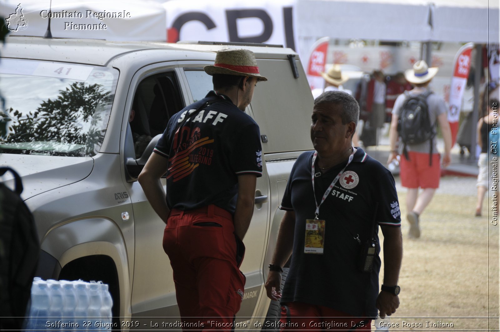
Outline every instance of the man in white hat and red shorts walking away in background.
<path fill-rule="evenodd" d="M 437 67 L 429 68 L 423 60 L 415 62 L 413 68 L 406 70 L 404 73 L 406 80 L 415 86 L 408 91 L 408 94 L 428 93 L 428 85 L 437 70 Z M 399 146 L 399 150 L 396 149 L 397 123 L 405 98 L 407 98 L 406 93 L 400 94 L 396 98 L 392 109 L 392 120 L 389 129 L 390 154 L 387 162 L 396 158 L 401 152 L 401 146 Z M 447 166 L 450 161 L 451 149 L 451 130 L 447 120 L 447 108 L 444 100 L 434 93 L 430 93 L 426 101 L 431 125 L 435 126 L 438 122 L 441 129 L 444 140 L 444 154 L 441 162 L 443 166 Z M 402 157 L 400 160 L 400 177 L 401 185 L 408 188 L 406 194 L 406 219 L 410 225 L 408 236 L 417 238 L 420 236 L 420 215 L 431 201 L 435 189 L 439 186 L 439 176 L 441 174 L 440 155 L 435 146 L 435 139 L 432 138 L 423 143 L 407 144 L 406 150 L 408 157 Z M 434 152 L 429 155 L 429 151 Z M 422 188 L 420 193 L 418 188 Z"/>

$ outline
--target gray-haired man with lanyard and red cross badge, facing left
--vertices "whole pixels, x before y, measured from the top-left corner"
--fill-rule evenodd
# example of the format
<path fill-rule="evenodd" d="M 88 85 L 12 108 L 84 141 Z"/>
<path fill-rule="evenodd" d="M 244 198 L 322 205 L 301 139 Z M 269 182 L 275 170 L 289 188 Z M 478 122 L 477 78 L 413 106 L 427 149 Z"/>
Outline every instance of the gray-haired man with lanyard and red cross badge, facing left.
<path fill-rule="evenodd" d="M 384 317 L 399 305 L 402 236 L 394 178 L 352 146 L 358 116 L 359 106 L 347 93 L 327 91 L 314 100 L 314 150 L 302 153 L 291 170 L 265 283 L 267 296 L 280 299 L 285 330 L 370 330 L 377 308 Z M 380 292 L 378 226 L 384 237 Z"/>

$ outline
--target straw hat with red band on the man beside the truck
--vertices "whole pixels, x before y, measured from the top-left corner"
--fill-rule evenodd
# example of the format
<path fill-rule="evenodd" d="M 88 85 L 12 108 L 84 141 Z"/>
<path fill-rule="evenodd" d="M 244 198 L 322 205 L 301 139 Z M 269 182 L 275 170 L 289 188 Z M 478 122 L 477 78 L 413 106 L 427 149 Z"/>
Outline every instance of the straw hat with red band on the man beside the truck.
<path fill-rule="evenodd" d="M 215 55 L 215 64 L 205 65 L 203 70 L 209 75 L 227 74 L 267 80 L 259 73 L 255 54 L 249 49 L 221 49 Z"/>

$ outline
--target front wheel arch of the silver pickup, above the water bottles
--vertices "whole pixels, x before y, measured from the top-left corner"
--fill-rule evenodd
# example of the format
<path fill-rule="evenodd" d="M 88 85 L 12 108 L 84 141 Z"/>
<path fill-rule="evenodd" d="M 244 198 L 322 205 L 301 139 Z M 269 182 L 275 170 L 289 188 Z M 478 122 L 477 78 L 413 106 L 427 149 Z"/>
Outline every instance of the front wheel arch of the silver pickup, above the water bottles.
<path fill-rule="evenodd" d="M 90 229 L 99 229 L 98 236 Z M 56 226 L 43 237 L 41 251 L 40 257 L 51 257 L 54 263 L 52 266 L 39 264 L 38 276 L 108 283 L 113 298 L 113 317 L 130 315 L 127 250 L 120 230 L 112 221 L 92 218 Z"/>

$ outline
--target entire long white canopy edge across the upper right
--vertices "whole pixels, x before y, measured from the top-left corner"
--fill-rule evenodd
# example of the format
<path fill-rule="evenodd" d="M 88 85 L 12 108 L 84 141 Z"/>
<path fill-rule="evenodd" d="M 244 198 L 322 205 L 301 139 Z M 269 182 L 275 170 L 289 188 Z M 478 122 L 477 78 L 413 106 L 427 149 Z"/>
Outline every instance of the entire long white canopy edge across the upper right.
<path fill-rule="evenodd" d="M 498 42 L 498 0 L 297 0 L 302 52 L 320 37 Z"/>

